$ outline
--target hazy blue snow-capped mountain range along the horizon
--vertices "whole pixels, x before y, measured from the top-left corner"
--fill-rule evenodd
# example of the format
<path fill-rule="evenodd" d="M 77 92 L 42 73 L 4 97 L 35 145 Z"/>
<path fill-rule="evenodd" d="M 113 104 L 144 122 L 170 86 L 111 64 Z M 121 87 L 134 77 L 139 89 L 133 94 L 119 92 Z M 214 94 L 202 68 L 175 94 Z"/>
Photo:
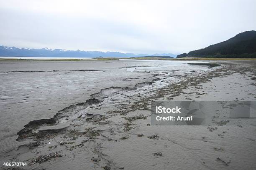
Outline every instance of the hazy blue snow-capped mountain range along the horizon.
<path fill-rule="evenodd" d="M 151 54 L 152 55 L 152 54 Z M 154 56 L 170 56 L 176 57 L 171 53 L 153 54 Z M 101 52 L 101 51 L 81 51 L 81 50 L 62 50 L 62 49 L 29 49 L 18 47 L 0 46 L 0 56 L 7 57 L 142 57 L 150 56 L 149 54 L 135 55 L 133 53 L 122 52 Z"/>

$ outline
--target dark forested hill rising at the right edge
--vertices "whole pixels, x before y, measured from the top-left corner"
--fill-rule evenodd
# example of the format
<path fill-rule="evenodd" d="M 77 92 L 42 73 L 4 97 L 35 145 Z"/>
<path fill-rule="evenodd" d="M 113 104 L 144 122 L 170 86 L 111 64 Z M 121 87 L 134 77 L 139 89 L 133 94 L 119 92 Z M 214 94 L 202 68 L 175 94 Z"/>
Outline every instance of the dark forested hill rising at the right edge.
<path fill-rule="evenodd" d="M 256 58 L 256 31 L 242 32 L 218 44 L 177 55 L 182 57 Z"/>

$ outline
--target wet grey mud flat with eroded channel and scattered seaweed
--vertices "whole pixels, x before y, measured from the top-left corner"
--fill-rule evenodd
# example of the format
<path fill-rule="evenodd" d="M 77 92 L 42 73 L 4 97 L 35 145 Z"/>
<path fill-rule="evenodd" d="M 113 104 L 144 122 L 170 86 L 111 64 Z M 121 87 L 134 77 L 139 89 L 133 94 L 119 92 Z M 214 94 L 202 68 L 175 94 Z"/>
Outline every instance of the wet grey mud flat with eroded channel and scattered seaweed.
<path fill-rule="evenodd" d="M 149 109 L 152 100 L 255 101 L 255 61 L 8 62 L 0 63 L 3 162 L 28 170 L 256 168 L 255 120 L 154 126 Z"/>

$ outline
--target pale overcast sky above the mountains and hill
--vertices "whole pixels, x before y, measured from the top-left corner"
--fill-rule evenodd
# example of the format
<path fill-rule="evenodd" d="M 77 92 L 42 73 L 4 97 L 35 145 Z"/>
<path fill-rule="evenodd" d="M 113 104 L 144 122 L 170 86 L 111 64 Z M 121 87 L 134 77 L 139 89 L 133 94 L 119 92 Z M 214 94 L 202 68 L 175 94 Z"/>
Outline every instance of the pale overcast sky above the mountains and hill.
<path fill-rule="evenodd" d="M 0 45 L 180 54 L 256 30 L 256 0 L 0 0 Z"/>

